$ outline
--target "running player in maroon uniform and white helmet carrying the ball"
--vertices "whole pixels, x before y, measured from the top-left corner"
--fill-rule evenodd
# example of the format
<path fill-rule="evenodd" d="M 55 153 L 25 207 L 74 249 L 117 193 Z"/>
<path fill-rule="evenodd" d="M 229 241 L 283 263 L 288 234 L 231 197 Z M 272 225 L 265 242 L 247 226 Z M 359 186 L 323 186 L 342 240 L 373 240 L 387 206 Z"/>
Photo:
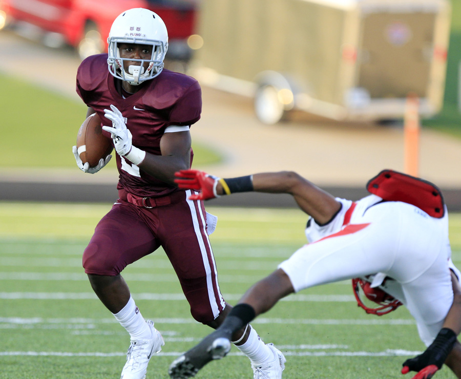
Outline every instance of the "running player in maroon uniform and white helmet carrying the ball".
<path fill-rule="evenodd" d="M 110 212 L 97 224 L 83 267 L 101 302 L 131 336 L 123 379 L 143 379 L 150 357 L 163 338 L 136 307 L 120 272 L 162 246 L 176 271 L 195 320 L 217 328 L 231 310 L 222 297 L 208 235 L 216 218 L 203 202 L 189 200 L 194 191 L 178 189 L 174 173 L 192 163 L 191 125 L 201 113 L 201 89 L 194 78 L 163 69 L 168 46 L 162 19 L 146 9 L 120 14 L 109 34 L 108 54 L 83 60 L 77 93 L 97 113 L 112 138 L 119 172 L 118 194 Z M 108 70 L 109 68 L 109 70 Z M 80 170 L 76 146 L 73 153 Z M 243 326 L 233 336 L 249 357 L 255 377 L 279 379 L 285 358 L 256 331 Z"/>

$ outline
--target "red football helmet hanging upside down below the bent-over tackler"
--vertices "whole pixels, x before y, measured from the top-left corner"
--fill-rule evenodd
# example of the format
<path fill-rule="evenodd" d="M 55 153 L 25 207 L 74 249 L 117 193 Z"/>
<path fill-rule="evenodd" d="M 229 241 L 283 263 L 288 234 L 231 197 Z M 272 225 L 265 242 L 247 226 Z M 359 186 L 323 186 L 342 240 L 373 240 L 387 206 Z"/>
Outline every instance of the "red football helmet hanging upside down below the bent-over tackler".
<path fill-rule="evenodd" d="M 362 291 L 365 294 L 365 297 L 368 300 L 371 300 L 375 302 L 376 304 L 378 304 L 379 307 L 375 307 L 375 308 L 367 307 L 362 301 L 362 299 L 360 298 L 360 295 L 361 295 L 360 288 L 362 288 Z M 376 314 L 378 316 L 382 316 L 383 314 L 392 312 L 393 310 L 399 308 L 402 305 L 402 303 L 399 300 L 390 296 L 389 293 L 386 293 L 385 291 L 383 291 L 382 289 L 378 287 L 371 288 L 371 283 L 361 278 L 352 279 L 352 289 L 354 291 L 354 296 L 355 296 L 355 299 L 357 300 L 359 307 L 362 307 L 363 309 L 365 309 L 365 312 L 370 313 L 370 314 Z"/>

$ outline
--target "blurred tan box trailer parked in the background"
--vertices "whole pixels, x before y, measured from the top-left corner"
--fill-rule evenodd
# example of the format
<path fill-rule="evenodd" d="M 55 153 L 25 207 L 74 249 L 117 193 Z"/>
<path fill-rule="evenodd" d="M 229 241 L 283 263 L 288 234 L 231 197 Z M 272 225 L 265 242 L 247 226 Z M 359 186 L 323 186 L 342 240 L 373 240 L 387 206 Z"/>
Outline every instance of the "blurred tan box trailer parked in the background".
<path fill-rule="evenodd" d="M 257 117 L 291 110 L 336 120 L 421 117 L 442 107 L 448 0 L 204 0 L 193 74 L 251 96 Z"/>

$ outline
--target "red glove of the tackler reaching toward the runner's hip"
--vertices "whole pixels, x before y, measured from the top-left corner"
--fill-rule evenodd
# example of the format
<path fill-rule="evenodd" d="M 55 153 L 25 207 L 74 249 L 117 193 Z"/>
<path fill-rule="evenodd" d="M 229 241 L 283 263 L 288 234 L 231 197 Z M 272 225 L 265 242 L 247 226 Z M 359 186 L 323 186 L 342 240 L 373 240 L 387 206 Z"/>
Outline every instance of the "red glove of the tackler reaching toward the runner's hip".
<path fill-rule="evenodd" d="M 175 173 L 175 183 L 179 188 L 195 189 L 201 191 L 196 195 L 191 195 L 191 200 L 208 200 L 220 197 L 216 193 L 216 186 L 218 185 L 219 178 L 209 175 L 203 171 L 198 170 L 181 170 Z"/>

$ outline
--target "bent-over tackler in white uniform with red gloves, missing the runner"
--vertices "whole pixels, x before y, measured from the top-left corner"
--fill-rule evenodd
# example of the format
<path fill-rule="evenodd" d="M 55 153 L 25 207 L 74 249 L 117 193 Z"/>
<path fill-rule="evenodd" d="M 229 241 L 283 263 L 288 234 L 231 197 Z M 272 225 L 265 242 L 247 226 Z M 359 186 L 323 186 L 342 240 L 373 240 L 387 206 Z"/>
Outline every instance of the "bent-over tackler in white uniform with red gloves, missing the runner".
<path fill-rule="evenodd" d="M 221 179 L 197 170 L 176 173 L 179 187 L 201 191 L 191 199 L 237 192 L 286 193 L 310 216 L 309 244 L 268 277 L 249 288 L 224 323 L 170 366 L 173 379 L 191 377 L 229 351 L 236 330 L 281 298 L 312 286 L 353 279 L 385 314 L 403 303 L 427 349 L 408 359 L 402 373 L 429 379 L 445 363 L 461 378 L 461 273 L 451 261 L 448 212 L 430 182 L 391 170 L 372 178 L 370 195 L 358 201 L 335 198 L 294 172 L 259 173 Z M 359 277 L 359 278 L 358 278 Z M 357 278 L 357 279 L 355 279 Z M 399 301 L 396 301 L 399 300 Z"/>

